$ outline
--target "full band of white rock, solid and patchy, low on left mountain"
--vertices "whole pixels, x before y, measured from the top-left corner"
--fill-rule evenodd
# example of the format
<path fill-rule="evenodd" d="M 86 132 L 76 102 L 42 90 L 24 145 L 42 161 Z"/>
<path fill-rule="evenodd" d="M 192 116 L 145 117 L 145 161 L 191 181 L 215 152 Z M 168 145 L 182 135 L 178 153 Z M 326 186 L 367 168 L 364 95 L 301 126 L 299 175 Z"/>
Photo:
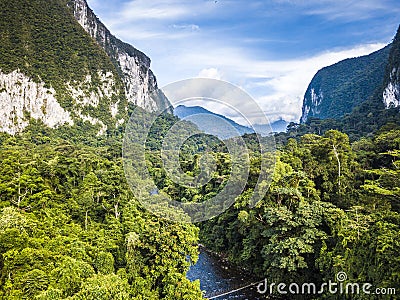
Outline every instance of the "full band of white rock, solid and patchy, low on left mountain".
<path fill-rule="evenodd" d="M 99 71 L 101 83 L 96 89 L 91 89 L 90 75 L 80 84 L 66 83 L 70 99 L 74 99 L 71 110 L 67 111 L 57 101 L 56 91 L 45 87 L 44 82 L 37 83 L 18 70 L 5 74 L 0 71 L 0 128 L 1 131 L 16 134 L 29 125 L 29 119 L 41 120 L 47 126 L 54 128 L 63 124 L 74 124 L 78 118 L 92 125 L 99 125 L 99 134 L 104 134 L 107 125 L 98 118 L 82 112 L 98 107 L 101 101 L 112 96 L 118 96 L 112 73 L 102 74 Z M 109 113 L 118 115 L 118 102 L 110 104 Z M 121 120 L 116 125 L 121 124 Z"/>

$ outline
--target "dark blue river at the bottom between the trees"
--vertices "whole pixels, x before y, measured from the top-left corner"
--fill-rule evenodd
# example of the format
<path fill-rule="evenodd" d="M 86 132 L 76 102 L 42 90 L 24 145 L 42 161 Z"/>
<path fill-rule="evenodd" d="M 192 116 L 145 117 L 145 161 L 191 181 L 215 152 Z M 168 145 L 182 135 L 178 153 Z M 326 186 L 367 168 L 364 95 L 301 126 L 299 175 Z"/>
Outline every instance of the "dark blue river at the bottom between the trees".
<path fill-rule="evenodd" d="M 200 279 L 200 288 L 206 298 L 223 295 L 257 282 L 254 278 L 250 278 L 237 269 L 229 267 L 204 249 L 200 249 L 199 259 L 195 265 L 190 267 L 187 272 L 187 278 L 191 281 Z M 258 300 L 266 298 L 257 293 L 257 285 L 253 285 L 213 299 Z"/>

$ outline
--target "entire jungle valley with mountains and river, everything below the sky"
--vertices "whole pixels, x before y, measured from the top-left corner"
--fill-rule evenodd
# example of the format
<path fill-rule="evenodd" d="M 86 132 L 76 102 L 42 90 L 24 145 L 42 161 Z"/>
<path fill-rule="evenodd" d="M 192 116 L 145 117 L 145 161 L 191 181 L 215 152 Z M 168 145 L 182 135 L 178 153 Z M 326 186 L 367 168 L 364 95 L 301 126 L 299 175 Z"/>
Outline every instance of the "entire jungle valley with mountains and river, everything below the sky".
<path fill-rule="evenodd" d="M 400 27 L 250 128 L 173 108 L 87 1 L 0 3 L 0 299 L 396 299 Z"/>

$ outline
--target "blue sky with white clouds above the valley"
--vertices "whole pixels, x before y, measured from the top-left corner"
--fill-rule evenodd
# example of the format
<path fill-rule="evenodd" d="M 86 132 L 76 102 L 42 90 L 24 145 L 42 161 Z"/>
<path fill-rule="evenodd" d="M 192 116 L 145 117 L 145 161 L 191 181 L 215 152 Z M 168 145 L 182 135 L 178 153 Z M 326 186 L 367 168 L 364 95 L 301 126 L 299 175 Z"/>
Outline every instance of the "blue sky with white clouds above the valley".
<path fill-rule="evenodd" d="M 196 77 L 228 81 L 271 122 L 298 122 L 319 69 L 383 48 L 400 23 L 398 0 L 87 2 L 114 35 L 151 58 L 159 87 Z"/>

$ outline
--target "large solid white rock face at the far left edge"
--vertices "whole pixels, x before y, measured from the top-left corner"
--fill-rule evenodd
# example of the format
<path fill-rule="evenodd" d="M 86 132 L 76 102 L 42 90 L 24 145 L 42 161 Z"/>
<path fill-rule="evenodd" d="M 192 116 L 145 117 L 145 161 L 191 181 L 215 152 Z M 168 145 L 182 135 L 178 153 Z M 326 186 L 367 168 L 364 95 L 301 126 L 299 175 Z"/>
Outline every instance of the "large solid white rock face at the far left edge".
<path fill-rule="evenodd" d="M 4 74 L 0 70 L 0 128 L 10 134 L 23 130 L 29 117 L 41 120 L 49 127 L 73 124 L 71 115 L 56 99 L 53 88 L 36 83 L 14 71 Z"/>

